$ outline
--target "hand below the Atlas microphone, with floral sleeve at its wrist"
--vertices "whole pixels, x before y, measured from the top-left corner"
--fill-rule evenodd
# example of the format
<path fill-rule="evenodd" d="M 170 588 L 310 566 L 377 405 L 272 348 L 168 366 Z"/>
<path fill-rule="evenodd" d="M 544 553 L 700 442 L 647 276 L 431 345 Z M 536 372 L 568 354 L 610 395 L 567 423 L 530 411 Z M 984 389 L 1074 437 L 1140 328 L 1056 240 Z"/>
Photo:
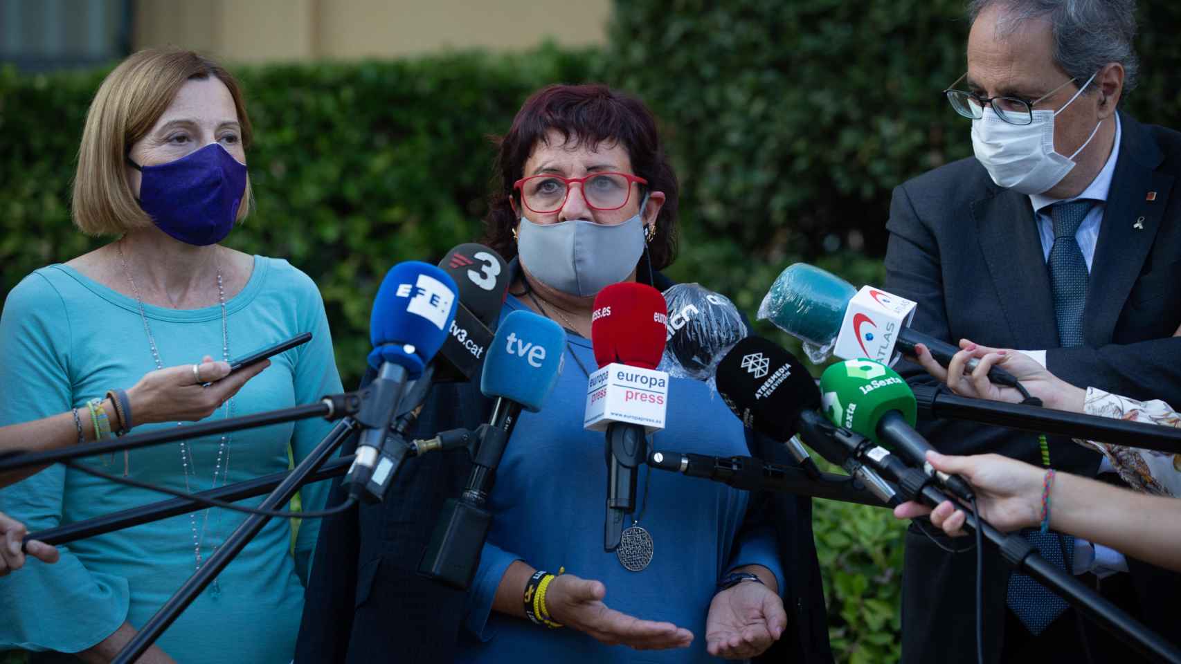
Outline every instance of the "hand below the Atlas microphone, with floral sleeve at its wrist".
<path fill-rule="evenodd" d="M 915 344 L 914 351 L 918 355 L 919 364 L 928 374 L 942 381 L 954 392 L 964 396 L 976 399 L 988 399 L 992 401 L 1007 401 L 1009 403 L 1020 403 L 1024 397 L 1011 387 L 1003 387 L 988 380 L 988 369 L 992 367 L 1004 367 L 1010 374 L 1017 377 L 1030 392 L 1030 395 L 1042 400 L 1046 408 L 1058 410 L 1083 412 L 1083 402 L 1087 400 L 1087 390 L 1077 388 L 1058 376 L 1051 374 L 1036 360 L 1020 353 L 1019 350 L 988 348 L 978 346 L 966 338 L 960 340 L 960 350 L 947 368 L 939 366 L 926 346 Z M 968 360 L 979 359 L 980 363 L 971 374 L 964 374 L 964 367 Z"/>

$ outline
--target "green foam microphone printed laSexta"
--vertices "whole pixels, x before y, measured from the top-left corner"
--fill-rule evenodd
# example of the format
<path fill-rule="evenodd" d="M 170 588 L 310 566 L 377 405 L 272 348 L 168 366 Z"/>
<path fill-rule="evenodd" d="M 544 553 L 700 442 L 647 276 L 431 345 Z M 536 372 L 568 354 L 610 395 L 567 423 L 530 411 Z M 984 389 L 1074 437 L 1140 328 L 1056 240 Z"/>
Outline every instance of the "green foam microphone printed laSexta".
<path fill-rule="evenodd" d="M 820 389 L 830 422 L 898 449 L 958 498 L 972 500 L 972 487 L 963 478 L 937 472 L 927 462 L 927 452 L 934 447 L 914 430 L 918 403 L 911 386 L 894 369 L 873 360 L 846 360 L 824 369 Z"/>

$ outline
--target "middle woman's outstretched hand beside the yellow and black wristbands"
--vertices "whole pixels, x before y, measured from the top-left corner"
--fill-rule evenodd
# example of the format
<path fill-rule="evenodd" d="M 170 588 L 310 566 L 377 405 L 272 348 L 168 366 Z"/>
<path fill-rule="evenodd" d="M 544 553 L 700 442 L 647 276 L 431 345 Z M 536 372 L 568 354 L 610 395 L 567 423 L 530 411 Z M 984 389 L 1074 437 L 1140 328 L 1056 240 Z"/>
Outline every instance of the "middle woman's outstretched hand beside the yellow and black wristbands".
<path fill-rule="evenodd" d="M 641 620 L 608 609 L 602 603 L 607 589 L 590 579 L 562 574 L 549 581 L 546 606 L 550 617 L 606 645 L 622 644 L 635 650 L 687 647 L 693 633 L 672 623 Z"/>

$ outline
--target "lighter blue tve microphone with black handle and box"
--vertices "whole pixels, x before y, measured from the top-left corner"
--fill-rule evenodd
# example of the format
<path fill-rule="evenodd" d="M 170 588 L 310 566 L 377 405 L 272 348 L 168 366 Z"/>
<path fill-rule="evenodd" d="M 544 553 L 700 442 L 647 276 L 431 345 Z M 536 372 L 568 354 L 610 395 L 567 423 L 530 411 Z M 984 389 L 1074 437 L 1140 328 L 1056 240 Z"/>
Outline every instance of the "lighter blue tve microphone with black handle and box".
<path fill-rule="evenodd" d="M 468 486 L 458 499 L 448 499 L 418 571 L 450 586 L 466 590 L 479 566 L 479 553 L 492 515 L 484 505 L 496 480 L 496 466 L 521 410 L 536 413 L 562 370 L 566 331 L 529 311 L 504 317 L 484 360 L 479 390 L 496 399 L 491 421 L 479 426 L 479 448 Z"/>

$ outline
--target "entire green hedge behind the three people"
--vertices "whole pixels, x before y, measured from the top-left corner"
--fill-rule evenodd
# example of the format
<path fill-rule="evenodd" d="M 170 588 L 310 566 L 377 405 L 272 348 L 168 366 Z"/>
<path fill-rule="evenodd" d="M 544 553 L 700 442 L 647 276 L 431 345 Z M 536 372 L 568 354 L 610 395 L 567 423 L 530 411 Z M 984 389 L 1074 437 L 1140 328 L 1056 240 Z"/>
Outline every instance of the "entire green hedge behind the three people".
<path fill-rule="evenodd" d="M 671 276 L 722 290 L 748 314 L 795 261 L 881 283 L 890 189 L 971 151 L 966 121 L 939 94 L 964 70 L 960 8 L 629 0 L 603 50 L 233 67 L 256 129 L 257 209 L 228 244 L 286 257 L 317 281 L 353 384 L 385 270 L 478 235 L 488 137 L 544 84 L 602 80 L 661 119 L 683 186 Z M 1140 119 L 1175 127 L 1179 21 L 1181 5 L 1144 4 L 1138 46 L 1150 57 L 1128 98 Z M 0 295 L 103 242 L 73 230 L 68 197 L 104 74 L 0 68 Z M 881 509 L 816 501 L 814 526 L 837 659 L 896 659 L 902 525 Z"/>

